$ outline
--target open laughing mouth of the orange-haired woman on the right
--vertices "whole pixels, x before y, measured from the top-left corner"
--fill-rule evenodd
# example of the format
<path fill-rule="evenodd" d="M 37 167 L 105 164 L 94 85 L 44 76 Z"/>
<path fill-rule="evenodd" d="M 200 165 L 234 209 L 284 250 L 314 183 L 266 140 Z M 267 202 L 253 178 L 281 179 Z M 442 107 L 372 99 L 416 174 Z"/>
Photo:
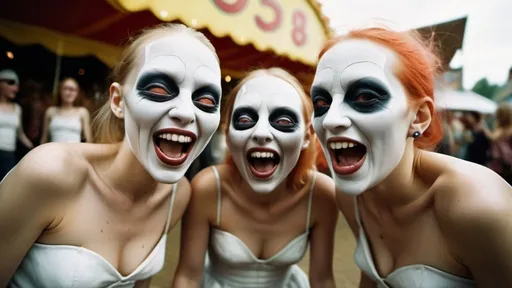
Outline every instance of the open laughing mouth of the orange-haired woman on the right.
<path fill-rule="evenodd" d="M 366 147 L 354 140 L 335 137 L 328 140 L 332 168 L 339 175 L 355 173 L 366 159 Z"/>

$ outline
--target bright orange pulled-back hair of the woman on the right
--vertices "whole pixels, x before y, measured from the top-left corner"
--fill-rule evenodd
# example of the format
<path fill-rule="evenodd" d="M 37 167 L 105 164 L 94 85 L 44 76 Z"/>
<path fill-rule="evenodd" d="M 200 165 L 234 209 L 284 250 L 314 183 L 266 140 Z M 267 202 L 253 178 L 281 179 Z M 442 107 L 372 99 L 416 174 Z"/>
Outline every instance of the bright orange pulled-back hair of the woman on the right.
<path fill-rule="evenodd" d="M 435 55 L 432 39 L 425 42 L 417 32 L 395 32 L 385 28 L 353 30 L 346 35 L 329 40 L 319 58 L 336 44 L 348 39 L 363 39 L 381 44 L 394 51 L 400 59 L 395 74 L 407 91 L 409 102 L 417 105 L 424 97 L 434 100 L 434 79 L 439 71 L 440 60 Z M 432 120 L 421 137 L 414 140 L 418 148 L 431 148 L 443 138 L 441 119 L 434 105 L 429 105 Z"/>

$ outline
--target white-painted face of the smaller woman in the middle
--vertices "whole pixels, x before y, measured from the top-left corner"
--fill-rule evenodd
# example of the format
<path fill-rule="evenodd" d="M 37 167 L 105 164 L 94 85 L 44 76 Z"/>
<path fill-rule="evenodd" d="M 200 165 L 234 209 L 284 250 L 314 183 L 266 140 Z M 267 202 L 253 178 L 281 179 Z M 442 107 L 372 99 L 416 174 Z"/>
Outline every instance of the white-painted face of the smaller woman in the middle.
<path fill-rule="evenodd" d="M 258 193 L 281 184 L 307 147 L 299 93 L 274 76 L 249 80 L 236 95 L 227 143 L 242 177 Z"/>

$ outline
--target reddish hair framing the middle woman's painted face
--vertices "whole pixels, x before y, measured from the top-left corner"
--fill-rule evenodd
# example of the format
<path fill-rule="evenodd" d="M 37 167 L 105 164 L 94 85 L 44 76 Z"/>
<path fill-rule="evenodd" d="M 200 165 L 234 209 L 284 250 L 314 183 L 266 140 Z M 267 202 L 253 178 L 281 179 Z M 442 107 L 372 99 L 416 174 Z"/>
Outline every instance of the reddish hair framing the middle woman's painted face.
<path fill-rule="evenodd" d="M 223 112 L 222 112 L 222 123 L 221 129 L 226 135 L 226 141 L 229 141 L 229 124 L 231 123 L 231 114 L 233 114 L 233 106 L 235 104 L 236 95 L 238 91 L 247 83 L 249 80 L 259 77 L 259 76 L 274 76 L 279 79 L 282 79 L 292 85 L 297 93 L 299 93 L 300 98 L 302 100 L 302 114 L 305 120 L 306 133 L 310 134 L 310 143 L 307 149 L 303 150 L 300 153 L 299 160 L 297 164 L 293 168 L 293 170 L 288 175 L 288 187 L 293 187 L 296 189 L 300 189 L 307 183 L 308 172 L 313 169 L 315 165 L 316 158 L 316 147 L 315 142 L 317 138 L 313 132 L 313 127 L 311 125 L 311 115 L 313 114 L 313 103 L 311 102 L 311 98 L 304 92 L 302 85 L 297 81 L 295 77 L 290 75 L 290 73 L 286 72 L 281 68 L 270 68 L 270 69 L 259 69 L 248 73 L 241 81 L 236 85 L 236 87 L 229 93 L 226 103 L 223 104 Z M 235 167 L 235 163 L 229 151 L 226 155 L 225 163 L 228 165 L 232 165 Z M 238 171 L 237 169 L 235 169 Z"/>

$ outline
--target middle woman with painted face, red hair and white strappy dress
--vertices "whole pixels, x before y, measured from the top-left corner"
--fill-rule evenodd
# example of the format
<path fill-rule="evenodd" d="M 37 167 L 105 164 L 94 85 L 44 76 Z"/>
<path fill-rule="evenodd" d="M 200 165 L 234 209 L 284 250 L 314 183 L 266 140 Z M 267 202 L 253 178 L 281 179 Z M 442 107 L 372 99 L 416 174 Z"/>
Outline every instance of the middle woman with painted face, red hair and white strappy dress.
<path fill-rule="evenodd" d="M 338 211 L 334 182 L 314 169 L 311 100 L 273 68 L 250 73 L 227 102 L 230 155 L 192 181 L 174 287 L 335 287 Z M 308 281 L 296 263 L 309 242 Z"/>

